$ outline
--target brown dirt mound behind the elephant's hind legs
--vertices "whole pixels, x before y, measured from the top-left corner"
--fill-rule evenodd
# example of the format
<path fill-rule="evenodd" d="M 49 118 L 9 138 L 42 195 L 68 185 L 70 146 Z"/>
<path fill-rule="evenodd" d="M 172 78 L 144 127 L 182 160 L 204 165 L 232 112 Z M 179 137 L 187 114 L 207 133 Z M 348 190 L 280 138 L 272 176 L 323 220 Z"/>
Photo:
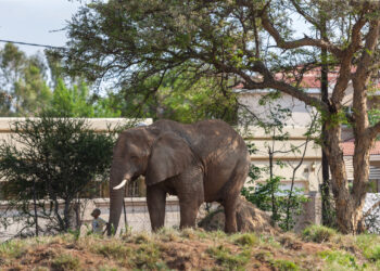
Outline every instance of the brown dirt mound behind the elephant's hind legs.
<path fill-rule="evenodd" d="M 239 232 L 265 232 L 276 234 L 280 230 L 270 224 L 270 216 L 255 207 L 244 197 L 239 197 L 237 206 L 237 223 Z M 198 225 L 206 231 L 224 230 L 225 212 L 223 206 L 202 219 Z"/>

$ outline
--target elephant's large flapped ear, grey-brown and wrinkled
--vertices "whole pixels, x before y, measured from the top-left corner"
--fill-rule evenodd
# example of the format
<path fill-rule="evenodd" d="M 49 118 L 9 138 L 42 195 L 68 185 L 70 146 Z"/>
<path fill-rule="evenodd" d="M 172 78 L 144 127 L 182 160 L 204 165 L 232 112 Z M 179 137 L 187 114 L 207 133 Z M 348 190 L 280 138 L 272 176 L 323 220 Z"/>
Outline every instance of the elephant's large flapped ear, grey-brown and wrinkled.
<path fill-rule="evenodd" d="M 193 157 L 189 144 L 182 138 L 173 132 L 162 134 L 152 145 L 145 175 L 147 185 L 181 173 L 191 165 Z"/>

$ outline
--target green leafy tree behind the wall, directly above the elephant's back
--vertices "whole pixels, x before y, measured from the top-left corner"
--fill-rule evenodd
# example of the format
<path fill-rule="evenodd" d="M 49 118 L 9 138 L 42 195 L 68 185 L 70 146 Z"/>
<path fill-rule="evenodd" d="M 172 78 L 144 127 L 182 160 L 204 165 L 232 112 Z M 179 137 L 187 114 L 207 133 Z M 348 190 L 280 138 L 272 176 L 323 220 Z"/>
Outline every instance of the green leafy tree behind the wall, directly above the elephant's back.
<path fill-rule="evenodd" d="M 190 78 L 190 79 L 189 79 Z M 225 78 L 193 78 L 193 75 L 169 70 L 161 78 L 154 76 L 141 81 L 131 91 L 122 89 L 125 100 L 123 114 L 128 117 L 169 118 L 194 122 L 205 118 L 237 121 L 236 93 L 227 88 Z M 154 93 L 152 89 L 157 88 Z M 215 88 L 224 91 L 215 92 Z"/>

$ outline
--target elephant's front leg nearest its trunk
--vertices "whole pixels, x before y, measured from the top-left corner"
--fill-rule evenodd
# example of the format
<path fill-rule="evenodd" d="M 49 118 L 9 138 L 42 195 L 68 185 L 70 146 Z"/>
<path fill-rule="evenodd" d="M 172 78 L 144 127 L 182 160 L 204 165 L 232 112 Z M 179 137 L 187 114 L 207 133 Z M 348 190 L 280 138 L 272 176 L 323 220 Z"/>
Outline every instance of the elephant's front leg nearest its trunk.
<path fill-rule="evenodd" d="M 157 231 L 165 223 L 166 192 L 159 185 L 147 188 L 147 203 L 152 231 Z"/>

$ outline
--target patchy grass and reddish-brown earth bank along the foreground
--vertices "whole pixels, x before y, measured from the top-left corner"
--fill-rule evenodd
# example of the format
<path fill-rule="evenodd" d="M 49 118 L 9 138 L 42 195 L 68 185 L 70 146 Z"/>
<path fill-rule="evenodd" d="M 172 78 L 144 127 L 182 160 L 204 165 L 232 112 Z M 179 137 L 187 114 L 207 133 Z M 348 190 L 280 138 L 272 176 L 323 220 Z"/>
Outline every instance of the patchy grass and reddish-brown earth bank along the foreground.
<path fill-rule="evenodd" d="M 64 234 L 0 244 L 0 270 L 380 270 L 380 236 L 324 227 L 301 235 L 162 229 L 119 237 Z"/>

